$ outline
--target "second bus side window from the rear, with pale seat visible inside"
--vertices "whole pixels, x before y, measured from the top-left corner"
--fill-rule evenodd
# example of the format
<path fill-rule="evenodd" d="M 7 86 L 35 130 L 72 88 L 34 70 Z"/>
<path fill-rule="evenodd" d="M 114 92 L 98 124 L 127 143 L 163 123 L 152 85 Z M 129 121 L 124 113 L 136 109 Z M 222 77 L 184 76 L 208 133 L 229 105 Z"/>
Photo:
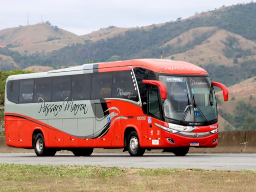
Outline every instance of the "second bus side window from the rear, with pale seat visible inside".
<path fill-rule="evenodd" d="M 20 103 L 33 101 L 34 79 L 20 80 Z"/>

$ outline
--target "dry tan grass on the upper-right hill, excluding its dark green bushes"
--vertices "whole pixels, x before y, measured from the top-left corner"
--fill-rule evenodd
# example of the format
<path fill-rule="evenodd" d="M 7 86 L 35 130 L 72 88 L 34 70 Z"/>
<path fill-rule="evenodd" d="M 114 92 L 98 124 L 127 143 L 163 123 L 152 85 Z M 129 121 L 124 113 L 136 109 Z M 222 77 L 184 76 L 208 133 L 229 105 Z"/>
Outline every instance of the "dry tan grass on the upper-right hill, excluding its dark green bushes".
<path fill-rule="evenodd" d="M 200 27 L 195 29 L 191 29 L 188 32 L 184 32 L 183 34 L 180 35 L 180 37 L 192 38 L 193 32 L 200 33 L 200 32 L 210 30 L 211 28 Z M 200 45 L 195 46 L 194 49 L 190 49 L 186 52 L 179 53 L 176 55 L 170 55 L 166 58 L 171 58 L 172 56 L 174 56 L 175 60 L 187 61 L 194 64 L 215 63 L 219 65 L 222 64 L 227 66 L 233 66 L 233 58 L 227 58 L 223 52 L 223 49 L 225 49 L 225 44 L 223 42 L 226 42 L 226 38 L 228 36 L 239 39 L 239 44 L 237 45 L 237 47 L 239 47 L 240 49 L 250 50 L 250 52 L 252 52 L 253 54 L 256 54 L 255 42 L 250 41 L 246 38 L 243 38 L 241 35 L 228 32 L 224 29 L 219 29 L 215 32 L 214 35 L 212 35 L 206 41 L 202 42 Z M 175 41 L 175 39 L 172 41 Z M 183 42 L 184 44 L 186 44 L 189 41 L 186 40 L 185 38 L 183 39 Z M 253 59 L 252 56 L 239 58 L 239 62 L 248 61 L 251 59 Z"/>

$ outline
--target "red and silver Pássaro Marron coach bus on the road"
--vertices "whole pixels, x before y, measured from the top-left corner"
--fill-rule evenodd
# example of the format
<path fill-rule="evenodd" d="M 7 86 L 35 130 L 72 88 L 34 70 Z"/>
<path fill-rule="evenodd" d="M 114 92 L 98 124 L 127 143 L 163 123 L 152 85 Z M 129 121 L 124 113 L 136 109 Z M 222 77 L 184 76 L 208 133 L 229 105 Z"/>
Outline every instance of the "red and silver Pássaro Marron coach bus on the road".
<path fill-rule="evenodd" d="M 137 59 L 84 64 L 9 76 L 5 91 L 6 143 L 38 156 L 70 150 L 124 148 L 132 156 L 218 143 L 217 105 L 208 73 L 193 64 Z"/>

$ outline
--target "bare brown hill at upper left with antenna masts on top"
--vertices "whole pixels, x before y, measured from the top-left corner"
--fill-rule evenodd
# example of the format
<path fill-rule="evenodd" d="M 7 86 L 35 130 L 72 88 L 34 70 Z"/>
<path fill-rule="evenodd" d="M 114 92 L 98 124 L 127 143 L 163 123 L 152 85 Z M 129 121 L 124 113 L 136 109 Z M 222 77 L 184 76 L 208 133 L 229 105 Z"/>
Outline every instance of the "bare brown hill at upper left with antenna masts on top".
<path fill-rule="evenodd" d="M 7 47 L 21 54 L 51 52 L 77 43 L 84 43 L 84 39 L 45 23 L 0 31 L 0 47 Z"/>

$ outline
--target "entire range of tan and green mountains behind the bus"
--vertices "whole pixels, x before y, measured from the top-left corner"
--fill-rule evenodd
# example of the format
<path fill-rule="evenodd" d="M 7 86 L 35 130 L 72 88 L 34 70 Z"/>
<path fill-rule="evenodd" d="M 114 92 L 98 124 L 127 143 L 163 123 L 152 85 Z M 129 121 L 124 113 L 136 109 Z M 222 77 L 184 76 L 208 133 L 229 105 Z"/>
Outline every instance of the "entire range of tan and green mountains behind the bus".
<path fill-rule="evenodd" d="M 220 124 L 241 130 L 250 114 L 256 115 L 255 21 L 256 3 L 251 2 L 150 26 L 109 26 L 81 36 L 49 22 L 3 29 L 0 69 L 39 72 L 89 62 L 160 58 L 162 53 L 163 58 L 199 65 L 213 81 L 226 84 L 230 101 L 224 103 L 217 93 Z M 251 122 L 256 127 L 256 120 Z"/>

